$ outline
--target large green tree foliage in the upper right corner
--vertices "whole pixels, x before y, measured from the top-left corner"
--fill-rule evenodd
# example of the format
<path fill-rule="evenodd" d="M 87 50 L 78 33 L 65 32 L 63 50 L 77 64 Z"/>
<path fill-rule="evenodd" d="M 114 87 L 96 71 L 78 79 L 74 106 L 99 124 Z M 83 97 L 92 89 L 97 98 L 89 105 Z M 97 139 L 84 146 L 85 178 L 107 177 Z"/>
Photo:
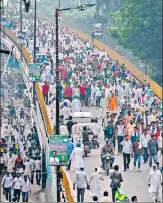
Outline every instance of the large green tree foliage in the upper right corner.
<path fill-rule="evenodd" d="M 160 83 L 162 0 L 125 0 L 121 10 L 111 16 L 114 18 L 114 26 L 109 29 L 111 36 L 118 36 L 123 47 L 153 66 L 153 79 Z"/>

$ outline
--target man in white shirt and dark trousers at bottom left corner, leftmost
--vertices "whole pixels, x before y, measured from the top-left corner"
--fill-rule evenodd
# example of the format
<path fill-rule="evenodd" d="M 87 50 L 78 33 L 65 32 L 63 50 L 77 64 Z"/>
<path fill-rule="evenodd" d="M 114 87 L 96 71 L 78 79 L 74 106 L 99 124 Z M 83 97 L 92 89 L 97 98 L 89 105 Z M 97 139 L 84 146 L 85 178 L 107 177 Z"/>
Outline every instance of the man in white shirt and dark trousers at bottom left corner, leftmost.
<path fill-rule="evenodd" d="M 6 195 L 6 201 L 11 202 L 11 187 L 13 185 L 13 178 L 8 171 L 7 174 L 2 179 L 2 185 Z"/>

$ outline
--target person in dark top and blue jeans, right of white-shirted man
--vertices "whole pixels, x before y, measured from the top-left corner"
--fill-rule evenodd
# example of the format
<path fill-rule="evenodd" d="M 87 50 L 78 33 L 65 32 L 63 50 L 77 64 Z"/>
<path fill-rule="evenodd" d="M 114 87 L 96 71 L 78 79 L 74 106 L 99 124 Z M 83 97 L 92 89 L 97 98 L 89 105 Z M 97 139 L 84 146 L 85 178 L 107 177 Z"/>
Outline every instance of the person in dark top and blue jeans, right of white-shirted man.
<path fill-rule="evenodd" d="M 133 153 L 134 153 L 134 169 L 136 168 L 136 162 L 138 161 L 138 171 L 141 172 L 141 143 L 140 137 L 136 138 L 136 142 L 133 143 Z"/>

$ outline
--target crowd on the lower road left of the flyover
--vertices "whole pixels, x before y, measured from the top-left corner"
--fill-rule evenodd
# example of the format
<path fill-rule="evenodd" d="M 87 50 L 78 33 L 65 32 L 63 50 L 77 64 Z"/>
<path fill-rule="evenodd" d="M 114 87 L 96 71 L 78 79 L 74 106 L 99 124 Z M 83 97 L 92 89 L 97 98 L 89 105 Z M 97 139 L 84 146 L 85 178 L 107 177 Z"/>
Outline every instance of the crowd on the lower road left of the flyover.
<path fill-rule="evenodd" d="M 6 105 L 8 113 L 1 120 L 1 184 L 6 201 L 19 202 L 22 193 L 22 201 L 28 202 L 31 185 L 41 183 L 40 146 L 35 124 L 26 120 L 25 109 L 17 107 L 20 100 L 13 100 L 13 106 Z"/>

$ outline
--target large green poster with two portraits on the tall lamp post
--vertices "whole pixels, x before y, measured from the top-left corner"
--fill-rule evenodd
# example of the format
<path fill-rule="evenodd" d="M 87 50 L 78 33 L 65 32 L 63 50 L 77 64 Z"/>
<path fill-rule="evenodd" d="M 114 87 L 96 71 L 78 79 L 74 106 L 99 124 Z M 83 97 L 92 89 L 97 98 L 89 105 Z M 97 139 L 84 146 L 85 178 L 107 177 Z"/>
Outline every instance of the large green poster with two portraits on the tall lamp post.
<path fill-rule="evenodd" d="M 49 165 L 67 166 L 68 135 L 51 135 L 49 138 Z"/>

